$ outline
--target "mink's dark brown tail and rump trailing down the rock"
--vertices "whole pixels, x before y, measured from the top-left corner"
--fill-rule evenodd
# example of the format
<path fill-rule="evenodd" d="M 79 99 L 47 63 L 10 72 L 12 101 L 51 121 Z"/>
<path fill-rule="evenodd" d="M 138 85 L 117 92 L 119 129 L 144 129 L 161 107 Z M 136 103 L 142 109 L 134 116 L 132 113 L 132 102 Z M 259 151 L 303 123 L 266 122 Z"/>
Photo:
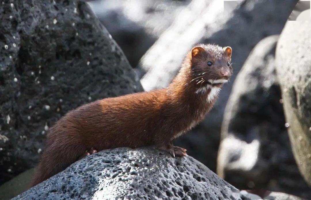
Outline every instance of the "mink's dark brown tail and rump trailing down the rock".
<path fill-rule="evenodd" d="M 84 145 L 79 144 L 77 141 L 60 138 L 61 135 L 63 134 L 54 134 L 48 139 L 48 144 L 42 154 L 30 187 L 65 170 L 86 151 Z"/>

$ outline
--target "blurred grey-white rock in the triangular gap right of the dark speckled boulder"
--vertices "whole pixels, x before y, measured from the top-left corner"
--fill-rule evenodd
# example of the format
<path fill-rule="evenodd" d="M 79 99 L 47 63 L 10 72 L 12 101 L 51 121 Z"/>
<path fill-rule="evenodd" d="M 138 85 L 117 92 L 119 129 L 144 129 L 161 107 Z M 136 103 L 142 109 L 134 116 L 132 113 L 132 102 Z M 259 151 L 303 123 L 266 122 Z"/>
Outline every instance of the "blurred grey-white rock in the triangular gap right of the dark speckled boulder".
<path fill-rule="evenodd" d="M 88 2 L 128 61 L 139 59 L 160 37 L 190 0 L 99 0 Z"/>

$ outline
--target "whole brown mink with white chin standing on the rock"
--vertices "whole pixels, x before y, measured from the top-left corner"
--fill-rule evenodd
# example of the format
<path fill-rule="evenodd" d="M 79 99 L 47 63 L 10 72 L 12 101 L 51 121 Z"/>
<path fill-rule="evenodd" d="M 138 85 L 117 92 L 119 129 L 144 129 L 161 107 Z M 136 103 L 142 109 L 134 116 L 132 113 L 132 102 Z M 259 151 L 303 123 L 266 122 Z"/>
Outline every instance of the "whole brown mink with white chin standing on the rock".
<path fill-rule="evenodd" d="M 232 74 L 232 49 L 199 44 L 167 88 L 104 98 L 68 112 L 50 128 L 32 186 L 85 155 L 109 148 L 156 145 L 173 157 L 186 149 L 172 140 L 209 112 Z"/>

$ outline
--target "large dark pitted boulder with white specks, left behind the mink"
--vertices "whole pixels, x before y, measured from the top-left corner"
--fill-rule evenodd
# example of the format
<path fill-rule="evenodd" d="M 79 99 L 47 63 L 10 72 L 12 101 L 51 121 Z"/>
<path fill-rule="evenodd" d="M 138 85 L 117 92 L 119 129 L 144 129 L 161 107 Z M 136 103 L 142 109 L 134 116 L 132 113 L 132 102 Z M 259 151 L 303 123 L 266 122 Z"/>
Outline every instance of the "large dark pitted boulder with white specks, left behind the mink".
<path fill-rule="evenodd" d="M 141 91 L 123 52 L 79 0 L 0 6 L 0 183 L 33 167 L 67 111 Z"/>

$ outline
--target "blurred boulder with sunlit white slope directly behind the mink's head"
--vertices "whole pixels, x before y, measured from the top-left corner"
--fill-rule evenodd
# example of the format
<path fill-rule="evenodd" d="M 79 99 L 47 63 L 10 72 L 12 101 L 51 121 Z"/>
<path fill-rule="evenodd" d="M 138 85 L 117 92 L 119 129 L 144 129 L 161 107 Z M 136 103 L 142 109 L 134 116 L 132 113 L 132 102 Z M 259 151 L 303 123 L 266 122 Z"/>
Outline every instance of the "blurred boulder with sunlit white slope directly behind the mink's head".
<path fill-rule="evenodd" d="M 234 74 L 238 73 L 249 52 L 261 39 L 281 33 L 297 2 L 239 1 L 234 11 L 224 13 L 223 1 L 193 0 L 140 60 L 137 71 L 139 76 L 143 76 L 142 86 L 145 90 L 166 87 L 179 70 L 185 53 L 197 43 L 231 46 Z M 212 170 L 216 160 L 211 160 L 207 152 L 214 152 L 216 157 L 220 126 L 234 79 L 235 75 L 224 85 L 214 108 L 197 133 L 179 140 L 180 143 L 188 143 L 189 147 L 196 147 L 195 141 L 202 138 L 199 142 L 205 148 L 197 148 L 198 152 L 194 153 L 203 156 L 195 158 Z M 214 146 L 216 148 L 211 148 Z"/>

